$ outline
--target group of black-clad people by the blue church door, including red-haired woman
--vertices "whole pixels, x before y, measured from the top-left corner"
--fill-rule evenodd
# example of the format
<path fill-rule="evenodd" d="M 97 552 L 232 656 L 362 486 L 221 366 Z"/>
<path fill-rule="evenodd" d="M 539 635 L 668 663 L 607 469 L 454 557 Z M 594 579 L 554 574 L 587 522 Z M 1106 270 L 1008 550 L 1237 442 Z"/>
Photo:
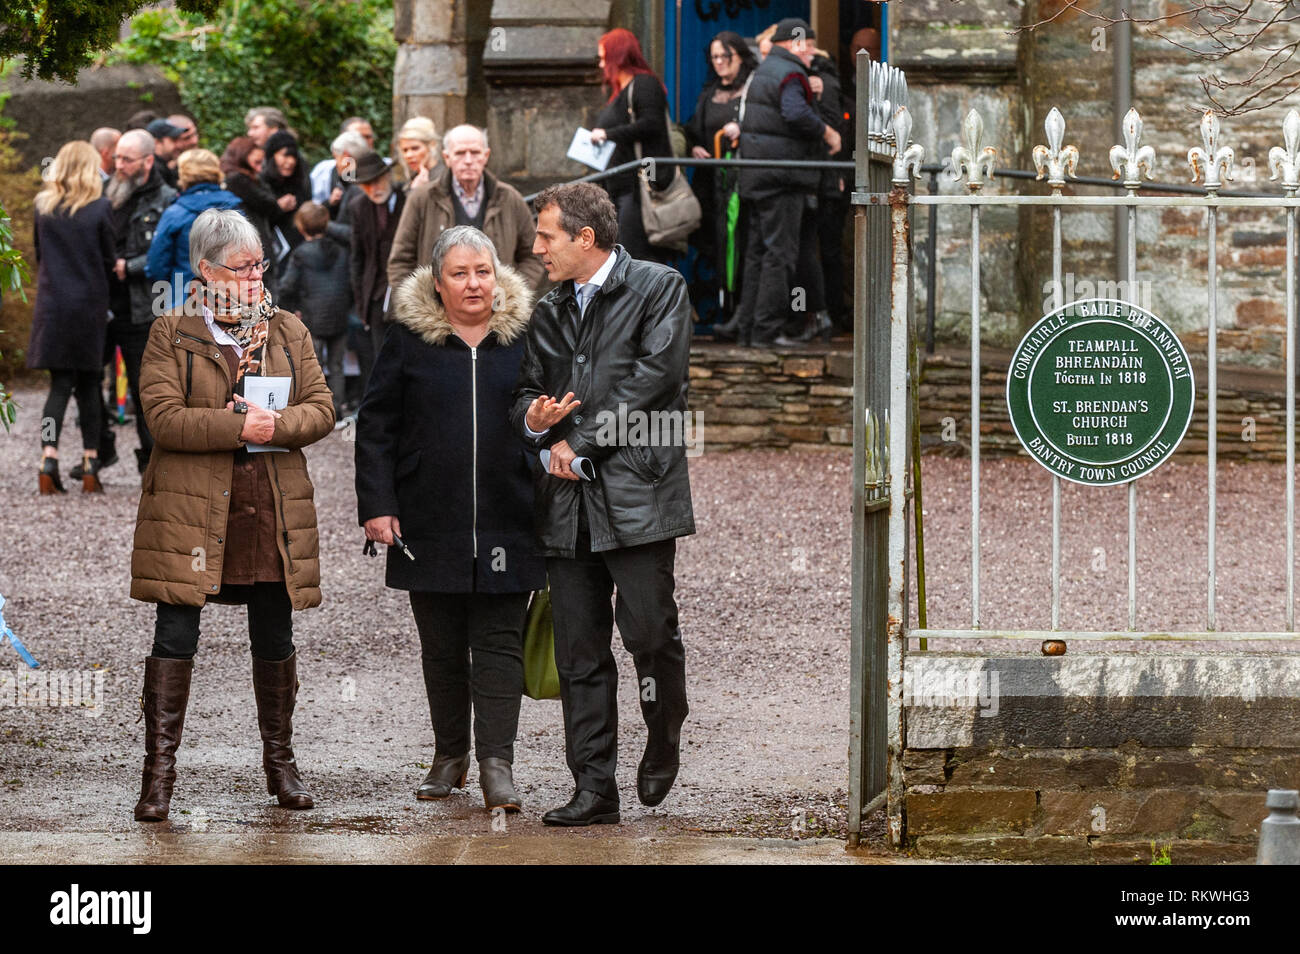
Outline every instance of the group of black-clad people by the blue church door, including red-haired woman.
<path fill-rule="evenodd" d="M 850 49 L 879 58 L 874 30 L 854 35 Z M 633 34 L 614 30 L 598 48 L 611 90 L 595 117 L 593 142 L 615 143 L 610 165 L 644 156 L 672 156 L 666 88 Z M 786 18 L 754 44 L 731 31 L 708 44 L 708 73 L 694 112 L 682 126 L 694 159 L 852 160 L 853 96 L 841 87 L 831 55 L 815 31 Z M 654 186 L 672 175 L 655 166 Z M 690 244 L 706 294 L 716 303 L 715 338 L 753 347 L 798 347 L 836 330 L 852 330 L 842 255 L 849 209 L 848 177 L 835 169 L 697 169 L 693 188 L 702 207 Z M 606 186 L 619 209 L 619 242 L 632 255 L 667 261 L 641 226 L 642 194 L 634 173 Z M 750 277 L 749 281 L 745 281 Z M 798 290 L 798 294 L 793 294 Z"/>

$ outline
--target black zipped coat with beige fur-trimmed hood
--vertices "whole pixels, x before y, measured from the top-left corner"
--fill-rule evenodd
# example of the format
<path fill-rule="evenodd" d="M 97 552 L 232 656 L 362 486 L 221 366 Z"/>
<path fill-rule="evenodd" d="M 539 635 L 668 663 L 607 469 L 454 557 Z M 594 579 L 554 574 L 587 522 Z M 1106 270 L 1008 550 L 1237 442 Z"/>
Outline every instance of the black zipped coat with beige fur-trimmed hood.
<path fill-rule="evenodd" d="M 386 582 L 432 593 L 525 593 L 546 585 L 533 538 L 536 455 L 512 433 L 511 393 L 532 295 L 506 265 L 488 337 L 467 346 L 425 265 L 393 292 L 389 329 L 356 420 L 358 522 L 393 515 L 408 560 Z"/>

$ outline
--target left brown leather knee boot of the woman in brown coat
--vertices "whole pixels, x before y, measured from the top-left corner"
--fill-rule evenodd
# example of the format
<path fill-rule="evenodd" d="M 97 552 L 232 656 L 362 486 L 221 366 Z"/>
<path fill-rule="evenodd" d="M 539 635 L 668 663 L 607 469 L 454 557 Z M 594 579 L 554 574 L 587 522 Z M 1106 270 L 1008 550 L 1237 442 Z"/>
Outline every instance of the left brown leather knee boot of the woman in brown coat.
<path fill-rule="evenodd" d="M 135 803 L 136 821 L 164 821 L 172 807 L 172 785 L 176 782 L 176 750 L 181 745 L 185 708 L 190 703 L 192 659 L 144 660 L 144 777 L 140 801 Z"/>

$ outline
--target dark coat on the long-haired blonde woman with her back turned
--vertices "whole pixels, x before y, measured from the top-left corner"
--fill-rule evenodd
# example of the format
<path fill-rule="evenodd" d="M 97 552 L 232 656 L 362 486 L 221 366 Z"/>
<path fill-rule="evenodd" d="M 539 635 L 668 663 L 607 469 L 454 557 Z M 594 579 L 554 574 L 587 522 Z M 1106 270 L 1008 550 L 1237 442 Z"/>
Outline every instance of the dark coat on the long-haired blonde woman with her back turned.
<path fill-rule="evenodd" d="M 29 368 L 104 367 L 114 246 L 113 211 L 103 196 L 74 216 L 36 213 L 36 303 L 27 342 Z"/>

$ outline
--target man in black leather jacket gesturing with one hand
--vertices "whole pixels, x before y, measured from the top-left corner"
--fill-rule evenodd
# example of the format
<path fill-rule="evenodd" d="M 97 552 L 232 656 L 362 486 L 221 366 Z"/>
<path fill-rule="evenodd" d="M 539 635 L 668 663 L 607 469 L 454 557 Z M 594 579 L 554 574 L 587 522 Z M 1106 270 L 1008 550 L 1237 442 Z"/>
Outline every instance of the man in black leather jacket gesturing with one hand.
<path fill-rule="evenodd" d="M 615 620 L 647 729 L 637 769 L 645 805 L 662 802 L 677 777 L 686 717 L 673 556 L 676 538 L 696 532 L 684 424 L 690 302 L 677 272 L 615 244 L 618 213 L 604 190 L 556 186 L 536 207 L 533 251 L 559 285 L 533 311 L 511 422 L 549 451 L 537 477 L 537 532 L 576 789 L 542 821 L 618 823 Z M 672 422 L 676 439 L 662 439 Z"/>

